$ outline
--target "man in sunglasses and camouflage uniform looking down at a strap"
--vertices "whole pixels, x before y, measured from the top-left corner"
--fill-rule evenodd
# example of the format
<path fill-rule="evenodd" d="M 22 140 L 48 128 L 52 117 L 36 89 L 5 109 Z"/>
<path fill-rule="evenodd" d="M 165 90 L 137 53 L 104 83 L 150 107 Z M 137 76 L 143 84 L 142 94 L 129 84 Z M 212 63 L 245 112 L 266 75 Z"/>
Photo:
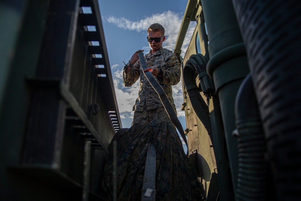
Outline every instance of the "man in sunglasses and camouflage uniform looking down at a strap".
<path fill-rule="evenodd" d="M 180 81 L 181 65 L 172 51 L 162 47 L 165 40 L 164 33 L 164 28 L 158 23 L 152 24 L 147 29 L 147 41 L 151 50 L 144 56 L 148 67 L 144 72 L 151 71 L 176 112 L 172 98 L 172 85 L 176 85 Z M 155 119 L 170 119 L 157 92 L 142 72 L 141 63 L 138 59 L 138 52 L 140 51 L 143 50 L 136 51 L 123 69 L 124 86 L 132 86 L 140 77 L 140 90 L 133 107 L 134 118 L 132 124 L 143 121 L 151 122 Z"/>

